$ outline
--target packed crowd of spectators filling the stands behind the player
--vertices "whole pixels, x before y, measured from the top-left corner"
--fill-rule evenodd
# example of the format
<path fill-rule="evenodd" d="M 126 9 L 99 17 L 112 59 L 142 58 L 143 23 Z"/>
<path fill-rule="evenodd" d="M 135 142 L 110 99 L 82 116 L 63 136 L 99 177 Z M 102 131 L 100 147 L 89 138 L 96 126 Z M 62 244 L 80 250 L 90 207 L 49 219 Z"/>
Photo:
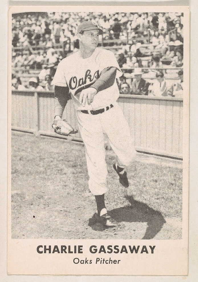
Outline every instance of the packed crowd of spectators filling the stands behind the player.
<path fill-rule="evenodd" d="M 182 13 L 20 13 L 12 20 L 12 89 L 53 89 L 58 63 L 78 50 L 76 27 L 89 19 L 102 28 L 99 45 L 115 53 L 123 73 L 183 67 Z M 26 73 L 32 77 L 24 82 Z M 122 92 L 125 77 L 125 86 L 120 82 Z"/>

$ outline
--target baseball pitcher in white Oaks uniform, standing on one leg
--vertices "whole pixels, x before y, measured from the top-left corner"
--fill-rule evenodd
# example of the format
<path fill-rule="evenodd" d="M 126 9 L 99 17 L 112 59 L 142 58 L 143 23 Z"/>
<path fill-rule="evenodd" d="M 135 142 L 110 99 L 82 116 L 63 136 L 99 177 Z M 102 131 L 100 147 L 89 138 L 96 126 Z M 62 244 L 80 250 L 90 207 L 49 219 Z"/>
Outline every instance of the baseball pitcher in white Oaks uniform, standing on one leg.
<path fill-rule="evenodd" d="M 113 168 L 124 187 L 129 186 L 125 167 L 134 159 L 135 150 L 128 123 L 116 102 L 119 97 L 116 78 L 123 73 L 115 55 L 97 47 L 99 32 L 101 30 L 91 21 L 79 24 L 79 51 L 58 64 L 52 81 L 55 85 L 55 120 L 52 126 L 59 134 L 76 132 L 66 121 L 61 120 L 71 93 L 86 148 L 89 189 L 97 205 L 92 223 L 99 220 L 103 225 L 113 227 L 117 224 L 105 206 L 108 171 L 103 133 L 107 134 L 118 157 Z"/>

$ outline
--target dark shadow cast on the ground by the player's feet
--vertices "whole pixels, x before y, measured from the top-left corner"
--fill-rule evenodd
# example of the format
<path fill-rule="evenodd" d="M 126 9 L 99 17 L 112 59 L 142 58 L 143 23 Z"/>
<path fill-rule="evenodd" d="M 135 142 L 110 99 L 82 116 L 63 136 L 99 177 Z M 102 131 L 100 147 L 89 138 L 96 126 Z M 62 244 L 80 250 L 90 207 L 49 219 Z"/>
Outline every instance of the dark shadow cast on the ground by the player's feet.
<path fill-rule="evenodd" d="M 166 222 L 161 212 L 150 208 L 145 203 L 134 200 L 133 196 L 125 196 L 125 198 L 130 202 L 130 205 L 109 211 L 111 217 L 116 222 L 147 222 L 148 227 L 142 239 L 154 238 Z M 97 231 L 107 229 L 101 222 L 96 221 L 94 216 L 89 219 L 89 226 Z"/>

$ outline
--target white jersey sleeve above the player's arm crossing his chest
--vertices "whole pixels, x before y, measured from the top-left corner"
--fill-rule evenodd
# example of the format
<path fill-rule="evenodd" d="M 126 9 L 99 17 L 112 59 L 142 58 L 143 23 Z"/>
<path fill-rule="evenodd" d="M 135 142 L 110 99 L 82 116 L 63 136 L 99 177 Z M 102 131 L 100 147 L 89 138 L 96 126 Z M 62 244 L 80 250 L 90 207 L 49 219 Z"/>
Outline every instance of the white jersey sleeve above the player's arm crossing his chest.
<path fill-rule="evenodd" d="M 97 60 L 99 62 L 99 73 L 101 73 L 101 71 L 104 70 L 105 68 L 115 67 L 117 68 L 116 78 L 121 77 L 123 73 L 121 71 L 121 68 L 119 67 L 115 55 L 113 54 L 113 52 L 109 50 L 104 50 L 104 51 L 101 51 L 97 56 Z"/>

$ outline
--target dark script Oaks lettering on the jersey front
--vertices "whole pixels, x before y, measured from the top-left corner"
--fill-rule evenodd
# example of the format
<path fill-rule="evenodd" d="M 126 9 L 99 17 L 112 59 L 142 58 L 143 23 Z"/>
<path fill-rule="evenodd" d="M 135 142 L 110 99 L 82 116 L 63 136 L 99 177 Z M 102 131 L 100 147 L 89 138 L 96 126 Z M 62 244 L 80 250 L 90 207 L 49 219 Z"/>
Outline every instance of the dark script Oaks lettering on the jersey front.
<path fill-rule="evenodd" d="M 86 89 L 86 88 L 89 88 L 93 83 L 95 83 L 95 81 L 100 77 L 100 74 L 99 74 L 99 70 L 97 70 L 93 77 L 91 75 L 91 70 L 87 70 L 85 72 L 85 77 L 81 77 L 81 78 L 77 78 L 76 76 L 72 76 L 70 78 L 70 81 L 69 81 L 69 88 L 71 90 L 75 90 L 77 88 L 77 90 L 75 91 L 74 93 L 74 96 L 76 98 L 79 99 L 80 97 L 80 92 L 83 90 L 83 89 Z M 87 83 L 87 81 L 91 82 L 91 83 Z M 86 84 L 86 85 L 85 85 Z"/>

